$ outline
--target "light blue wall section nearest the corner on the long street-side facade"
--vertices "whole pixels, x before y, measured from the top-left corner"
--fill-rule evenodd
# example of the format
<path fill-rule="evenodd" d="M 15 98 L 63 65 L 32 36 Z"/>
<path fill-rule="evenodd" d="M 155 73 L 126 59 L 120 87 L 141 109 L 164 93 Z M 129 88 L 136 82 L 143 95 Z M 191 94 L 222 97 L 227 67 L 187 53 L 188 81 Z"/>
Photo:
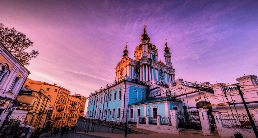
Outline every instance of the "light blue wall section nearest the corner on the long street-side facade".
<path fill-rule="evenodd" d="M 120 107 L 120 117 L 121 117 L 121 112 L 122 112 L 122 98 L 123 98 L 123 95 L 121 94 L 121 99 L 120 100 L 118 100 L 118 93 L 119 93 L 119 89 L 121 88 L 121 90 L 122 90 L 122 92 L 121 93 L 123 93 L 123 86 L 121 86 L 121 87 L 119 87 L 119 88 L 116 88 L 116 89 L 113 89 L 113 90 L 111 90 L 111 91 L 109 91 L 109 94 L 111 93 L 111 100 L 110 101 L 108 101 L 108 99 L 109 99 L 109 96 L 108 96 L 108 99 L 107 99 L 107 102 L 104 102 L 104 109 L 106 109 L 106 112 L 108 111 L 108 108 L 110 108 L 110 111 L 111 111 L 111 114 L 110 114 L 110 111 L 109 111 L 109 113 L 107 113 L 107 114 L 109 114 L 109 118 L 107 118 L 107 117 L 105 117 L 105 119 L 107 119 L 107 120 L 112 120 L 112 112 L 113 112 L 113 108 L 115 108 L 115 114 L 114 114 L 114 121 L 119 121 L 119 120 L 117 120 L 117 107 Z M 115 90 L 117 91 L 117 94 L 116 94 L 116 100 L 115 101 L 113 101 L 113 96 L 114 96 L 114 92 L 115 92 Z M 108 92 L 106 93 L 106 94 L 108 94 Z M 108 105 L 108 107 L 107 107 L 107 105 Z M 104 112 L 104 110 L 103 110 L 103 112 Z"/>

